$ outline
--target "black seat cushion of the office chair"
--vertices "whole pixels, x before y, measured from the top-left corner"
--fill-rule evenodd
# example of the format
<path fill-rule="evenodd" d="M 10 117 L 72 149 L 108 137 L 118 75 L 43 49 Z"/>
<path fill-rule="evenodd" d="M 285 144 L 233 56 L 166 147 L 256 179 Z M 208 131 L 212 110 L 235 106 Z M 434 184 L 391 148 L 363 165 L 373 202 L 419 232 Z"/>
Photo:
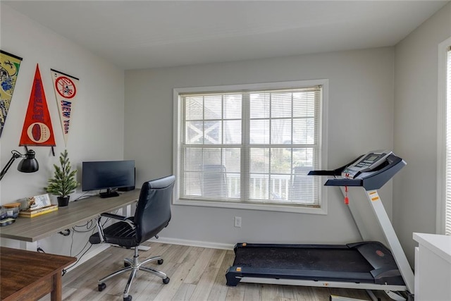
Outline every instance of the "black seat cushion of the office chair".
<path fill-rule="evenodd" d="M 136 240 L 136 231 L 129 223 L 119 221 L 113 225 L 104 228 L 105 242 L 113 245 L 120 245 L 121 247 L 137 247 L 140 242 Z M 99 233 L 94 233 L 89 238 L 92 244 L 100 243 Z"/>

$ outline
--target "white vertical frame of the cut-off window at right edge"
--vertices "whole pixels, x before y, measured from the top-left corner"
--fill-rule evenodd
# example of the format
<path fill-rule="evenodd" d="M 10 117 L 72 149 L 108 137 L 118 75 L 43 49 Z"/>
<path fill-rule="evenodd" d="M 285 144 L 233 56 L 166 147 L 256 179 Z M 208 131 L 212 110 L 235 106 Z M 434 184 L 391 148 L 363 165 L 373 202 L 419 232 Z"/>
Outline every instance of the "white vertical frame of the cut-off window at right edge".
<path fill-rule="evenodd" d="M 438 45 L 438 113 L 437 113 L 437 208 L 436 232 L 445 234 L 446 212 L 446 89 L 447 89 L 447 50 L 451 37 Z"/>

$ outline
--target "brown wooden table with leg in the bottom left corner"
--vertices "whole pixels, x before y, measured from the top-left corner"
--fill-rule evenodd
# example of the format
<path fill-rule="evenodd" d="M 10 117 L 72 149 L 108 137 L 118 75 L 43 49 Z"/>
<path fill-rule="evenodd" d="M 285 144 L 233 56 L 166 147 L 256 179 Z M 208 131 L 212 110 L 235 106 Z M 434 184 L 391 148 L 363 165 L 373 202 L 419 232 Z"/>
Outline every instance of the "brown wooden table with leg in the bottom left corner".
<path fill-rule="evenodd" d="M 61 301 L 61 270 L 77 258 L 0 247 L 0 297 L 3 301 L 39 300 L 51 293 Z"/>

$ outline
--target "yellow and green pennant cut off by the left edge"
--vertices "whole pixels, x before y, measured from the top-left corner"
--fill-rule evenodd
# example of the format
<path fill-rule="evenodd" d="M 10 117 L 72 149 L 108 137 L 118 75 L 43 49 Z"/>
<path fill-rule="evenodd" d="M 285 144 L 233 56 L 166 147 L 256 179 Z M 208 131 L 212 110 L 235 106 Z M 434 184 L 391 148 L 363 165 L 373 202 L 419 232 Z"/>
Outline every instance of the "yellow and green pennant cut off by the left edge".
<path fill-rule="evenodd" d="M 0 50 L 0 136 L 5 126 L 22 58 Z"/>

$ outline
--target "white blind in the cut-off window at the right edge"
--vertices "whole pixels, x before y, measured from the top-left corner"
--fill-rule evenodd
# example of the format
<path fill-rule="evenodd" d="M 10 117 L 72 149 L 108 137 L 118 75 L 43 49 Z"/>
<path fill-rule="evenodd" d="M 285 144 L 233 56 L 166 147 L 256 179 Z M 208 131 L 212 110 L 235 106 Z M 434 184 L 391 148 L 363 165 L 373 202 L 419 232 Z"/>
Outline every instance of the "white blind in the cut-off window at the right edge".
<path fill-rule="evenodd" d="M 445 234 L 451 235 L 451 47 L 447 51 L 446 70 Z"/>

